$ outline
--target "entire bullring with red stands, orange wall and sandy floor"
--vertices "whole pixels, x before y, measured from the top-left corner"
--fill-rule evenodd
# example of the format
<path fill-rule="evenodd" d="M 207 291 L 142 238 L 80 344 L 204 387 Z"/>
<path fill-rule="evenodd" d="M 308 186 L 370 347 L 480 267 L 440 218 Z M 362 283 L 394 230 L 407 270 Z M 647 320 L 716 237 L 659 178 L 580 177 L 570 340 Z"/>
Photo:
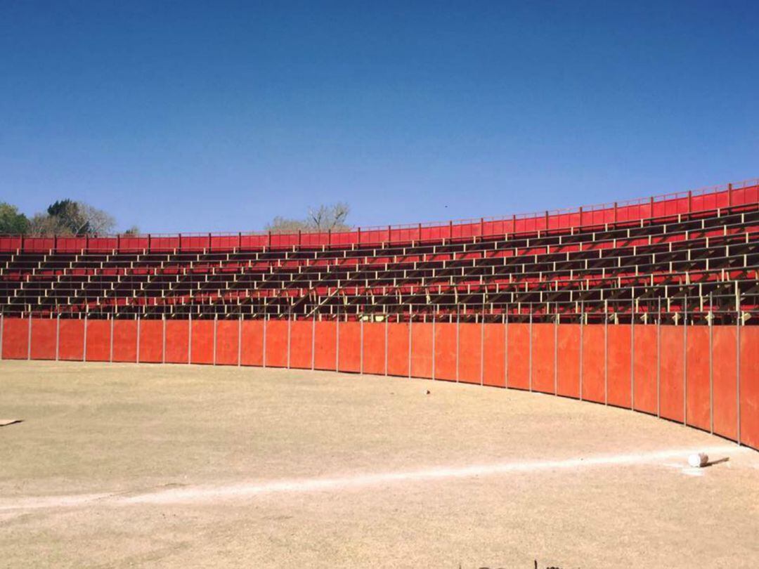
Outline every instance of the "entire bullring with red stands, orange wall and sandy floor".
<path fill-rule="evenodd" d="M 0 564 L 752 567 L 757 235 L 750 181 L 0 237 Z"/>

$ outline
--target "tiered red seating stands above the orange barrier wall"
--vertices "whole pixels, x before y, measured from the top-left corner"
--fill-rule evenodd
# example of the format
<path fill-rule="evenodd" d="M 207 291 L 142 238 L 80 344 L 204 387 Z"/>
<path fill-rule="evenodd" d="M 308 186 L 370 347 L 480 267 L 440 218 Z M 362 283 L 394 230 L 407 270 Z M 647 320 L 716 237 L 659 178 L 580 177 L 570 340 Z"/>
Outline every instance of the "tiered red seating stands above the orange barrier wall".
<path fill-rule="evenodd" d="M 0 237 L 0 312 L 731 322 L 759 307 L 757 191 L 343 234 Z"/>

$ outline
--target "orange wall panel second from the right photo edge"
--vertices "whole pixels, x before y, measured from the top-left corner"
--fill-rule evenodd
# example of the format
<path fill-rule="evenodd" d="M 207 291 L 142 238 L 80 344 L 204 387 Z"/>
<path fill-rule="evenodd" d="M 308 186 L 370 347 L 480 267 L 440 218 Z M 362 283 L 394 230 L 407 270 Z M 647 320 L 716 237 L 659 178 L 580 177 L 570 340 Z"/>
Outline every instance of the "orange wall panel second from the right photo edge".
<path fill-rule="evenodd" d="M 734 325 L 712 328 L 714 432 L 738 439 L 738 338 Z"/>

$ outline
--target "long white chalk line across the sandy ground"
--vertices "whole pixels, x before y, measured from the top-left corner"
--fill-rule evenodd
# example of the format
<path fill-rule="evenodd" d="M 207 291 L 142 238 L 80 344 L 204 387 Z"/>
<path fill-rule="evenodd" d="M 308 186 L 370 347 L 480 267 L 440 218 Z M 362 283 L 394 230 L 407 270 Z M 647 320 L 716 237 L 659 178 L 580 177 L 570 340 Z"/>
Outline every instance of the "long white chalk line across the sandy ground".
<path fill-rule="evenodd" d="M 234 498 L 250 498 L 252 496 L 277 492 L 327 492 L 422 480 L 474 478 L 477 476 L 535 473 L 588 467 L 660 464 L 661 461 L 676 457 L 681 458 L 685 466 L 688 455 L 698 452 L 714 455 L 753 451 L 735 445 L 722 445 L 707 448 L 679 448 L 666 451 L 601 455 L 553 461 L 512 461 L 496 464 L 477 464 L 468 467 L 436 467 L 423 470 L 408 470 L 405 472 L 370 473 L 333 478 L 274 480 L 263 483 L 240 483 L 230 486 L 183 486 L 162 489 L 156 492 L 145 492 L 139 495 L 124 495 L 124 493 L 52 495 L 36 498 L 19 498 L 16 500 L 0 500 L 0 512 L 38 508 L 72 508 L 83 505 L 186 504 Z"/>

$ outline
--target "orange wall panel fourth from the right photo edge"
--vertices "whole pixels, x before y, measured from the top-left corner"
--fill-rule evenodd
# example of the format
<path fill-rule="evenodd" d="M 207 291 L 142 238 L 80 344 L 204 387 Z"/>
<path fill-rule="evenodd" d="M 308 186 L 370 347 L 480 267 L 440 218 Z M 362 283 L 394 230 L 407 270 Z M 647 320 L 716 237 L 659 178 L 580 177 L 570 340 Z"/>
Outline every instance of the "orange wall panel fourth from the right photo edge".
<path fill-rule="evenodd" d="M 683 326 L 661 327 L 660 415 L 673 421 L 683 420 L 685 374 Z"/>

